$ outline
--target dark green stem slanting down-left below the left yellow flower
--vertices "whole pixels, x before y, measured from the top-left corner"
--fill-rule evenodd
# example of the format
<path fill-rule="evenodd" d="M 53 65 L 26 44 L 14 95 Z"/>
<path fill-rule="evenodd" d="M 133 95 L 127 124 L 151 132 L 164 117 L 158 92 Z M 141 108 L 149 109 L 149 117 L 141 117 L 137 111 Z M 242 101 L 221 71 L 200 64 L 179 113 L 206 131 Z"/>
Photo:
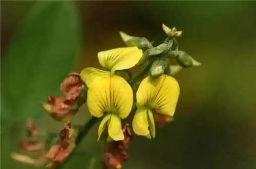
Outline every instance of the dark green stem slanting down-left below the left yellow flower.
<path fill-rule="evenodd" d="M 55 167 L 55 169 L 60 169 L 63 168 L 65 166 L 65 164 L 69 161 L 70 156 L 72 156 L 72 154 L 75 152 L 75 150 L 77 149 L 78 145 L 81 143 L 82 139 L 84 137 L 86 137 L 86 135 L 88 134 L 88 132 L 91 130 L 91 128 L 98 122 L 98 118 L 95 117 L 91 117 L 91 119 L 84 124 L 84 126 L 82 127 L 82 129 L 79 131 L 78 136 L 76 137 L 76 146 L 73 150 L 73 152 L 68 156 L 68 158 L 65 160 L 64 163 L 62 163 L 61 165 L 57 165 Z"/>

